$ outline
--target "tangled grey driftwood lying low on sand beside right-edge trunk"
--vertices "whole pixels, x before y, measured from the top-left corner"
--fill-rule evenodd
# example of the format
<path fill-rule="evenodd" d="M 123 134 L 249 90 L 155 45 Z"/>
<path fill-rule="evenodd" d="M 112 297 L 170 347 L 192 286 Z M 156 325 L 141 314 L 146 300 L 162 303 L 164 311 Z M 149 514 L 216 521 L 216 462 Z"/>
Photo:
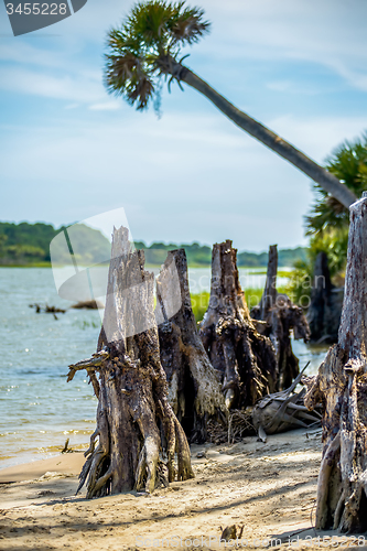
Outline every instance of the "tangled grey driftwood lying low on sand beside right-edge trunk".
<path fill-rule="evenodd" d="M 267 434 L 307 428 L 321 422 L 320 411 L 315 409 L 310 412 L 304 406 L 306 389 L 303 388 L 300 392 L 294 392 L 295 387 L 301 381 L 302 372 L 294 379 L 290 388 L 266 396 L 255 404 L 252 424 L 261 440 L 265 440 Z"/>

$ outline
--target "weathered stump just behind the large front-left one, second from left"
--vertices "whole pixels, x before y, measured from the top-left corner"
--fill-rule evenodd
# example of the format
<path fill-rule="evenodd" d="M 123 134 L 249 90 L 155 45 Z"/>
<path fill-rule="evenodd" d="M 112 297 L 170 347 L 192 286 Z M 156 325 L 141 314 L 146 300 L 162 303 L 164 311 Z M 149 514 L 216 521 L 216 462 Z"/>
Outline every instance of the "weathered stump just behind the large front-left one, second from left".
<path fill-rule="evenodd" d="M 206 423 L 226 419 L 219 374 L 211 365 L 191 306 L 184 249 L 168 253 L 156 280 L 161 364 L 169 401 L 191 442 L 207 440 Z M 171 315 L 173 314 L 173 315 Z"/>

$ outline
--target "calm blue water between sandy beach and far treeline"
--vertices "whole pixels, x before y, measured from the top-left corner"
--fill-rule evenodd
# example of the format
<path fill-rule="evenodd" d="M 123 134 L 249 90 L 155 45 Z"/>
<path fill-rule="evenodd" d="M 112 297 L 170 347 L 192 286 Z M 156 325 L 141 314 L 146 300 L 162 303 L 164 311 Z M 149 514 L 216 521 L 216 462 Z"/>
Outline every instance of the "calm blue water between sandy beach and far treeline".
<path fill-rule="evenodd" d="M 262 287 L 265 276 L 240 270 L 242 287 Z M 209 269 L 190 270 L 192 292 L 209 289 Z M 280 282 L 281 283 L 281 282 Z M 85 374 L 66 383 L 67 366 L 90 356 L 100 315 L 68 310 L 36 314 L 33 303 L 69 306 L 60 299 L 51 269 L 0 269 L 0 468 L 50 456 L 67 437 L 73 447 L 88 442 L 95 428 L 96 398 Z M 315 372 L 325 348 L 294 343 L 307 372 Z"/>

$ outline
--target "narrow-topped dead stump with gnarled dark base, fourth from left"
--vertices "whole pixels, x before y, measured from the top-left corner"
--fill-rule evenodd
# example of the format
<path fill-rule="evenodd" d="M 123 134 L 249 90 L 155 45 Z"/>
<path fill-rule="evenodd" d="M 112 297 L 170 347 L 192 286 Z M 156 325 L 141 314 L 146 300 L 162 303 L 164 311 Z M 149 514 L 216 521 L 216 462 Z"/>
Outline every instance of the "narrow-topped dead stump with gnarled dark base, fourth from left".
<path fill-rule="evenodd" d="M 277 245 L 269 248 L 269 261 L 266 287 L 260 303 L 251 310 L 251 317 L 257 320 L 257 329 L 270 337 L 277 354 L 277 390 L 291 386 L 299 375 L 299 359 L 294 356 L 291 333 L 294 338 L 310 339 L 310 328 L 303 310 L 285 295 L 277 291 L 278 250 Z"/>

